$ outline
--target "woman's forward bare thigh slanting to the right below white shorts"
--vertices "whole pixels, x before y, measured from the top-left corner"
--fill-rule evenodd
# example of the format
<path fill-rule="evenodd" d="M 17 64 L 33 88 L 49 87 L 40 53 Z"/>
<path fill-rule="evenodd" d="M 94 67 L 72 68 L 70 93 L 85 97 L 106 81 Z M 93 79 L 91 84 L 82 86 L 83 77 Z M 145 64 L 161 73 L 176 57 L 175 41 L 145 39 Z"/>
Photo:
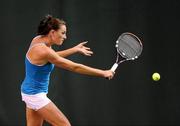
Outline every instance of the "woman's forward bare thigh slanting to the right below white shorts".
<path fill-rule="evenodd" d="M 53 102 L 50 102 L 43 108 L 38 110 L 38 113 L 53 126 L 70 126 L 66 116 L 56 107 Z"/>

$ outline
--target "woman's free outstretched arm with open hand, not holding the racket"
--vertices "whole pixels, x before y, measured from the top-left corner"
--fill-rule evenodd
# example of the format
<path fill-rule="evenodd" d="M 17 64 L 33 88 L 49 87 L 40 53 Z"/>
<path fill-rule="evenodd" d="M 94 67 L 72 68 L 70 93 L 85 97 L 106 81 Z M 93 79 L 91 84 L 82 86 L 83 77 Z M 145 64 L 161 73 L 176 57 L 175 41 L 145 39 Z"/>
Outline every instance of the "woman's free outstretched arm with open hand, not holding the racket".
<path fill-rule="evenodd" d="M 67 57 L 67 56 L 70 56 L 75 53 L 81 53 L 85 56 L 91 56 L 93 54 L 93 52 L 91 51 L 91 49 L 89 47 L 85 46 L 86 43 L 87 42 L 81 42 L 80 44 L 78 44 L 70 49 L 66 49 L 63 51 L 57 51 L 56 53 L 61 57 Z"/>

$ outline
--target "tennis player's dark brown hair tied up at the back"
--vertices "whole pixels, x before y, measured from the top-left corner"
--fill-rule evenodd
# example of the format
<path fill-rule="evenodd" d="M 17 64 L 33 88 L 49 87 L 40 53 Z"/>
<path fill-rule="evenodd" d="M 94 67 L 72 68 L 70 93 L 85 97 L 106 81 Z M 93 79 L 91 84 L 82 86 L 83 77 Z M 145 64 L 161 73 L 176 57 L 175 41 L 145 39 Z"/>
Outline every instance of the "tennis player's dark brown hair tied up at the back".
<path fill-rule="evenodd" d="M 50 30 L 57 31 L 61 25 L 66 25 L 66 22 L 48 14 L 40 21 L 37 34 L 47 35 Z"/>

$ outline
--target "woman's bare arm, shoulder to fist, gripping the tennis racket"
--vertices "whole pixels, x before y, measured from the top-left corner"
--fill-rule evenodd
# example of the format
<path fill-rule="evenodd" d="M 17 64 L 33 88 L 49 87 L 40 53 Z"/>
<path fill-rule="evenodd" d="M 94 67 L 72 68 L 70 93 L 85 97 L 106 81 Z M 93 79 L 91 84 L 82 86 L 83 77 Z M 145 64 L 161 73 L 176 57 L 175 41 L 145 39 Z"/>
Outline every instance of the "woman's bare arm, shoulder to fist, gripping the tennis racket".
<path fill-rule="evenodd" d="M 73 71 L 79 74 L 92 75 L 92 76 L 100 76 L 111 79 L 114 73 L 111 70 L 100 70 L 96 68 L 92 68 L 89 66 L 85 66 L 83 64 L 72 62 L 71 60 L 65 59 L 59 56 L 53 49 L 43 46 L 44 48 L 44 57 L 48 62 L 55 64 L 58 67 L 67 69 L 69 71 Z"/>

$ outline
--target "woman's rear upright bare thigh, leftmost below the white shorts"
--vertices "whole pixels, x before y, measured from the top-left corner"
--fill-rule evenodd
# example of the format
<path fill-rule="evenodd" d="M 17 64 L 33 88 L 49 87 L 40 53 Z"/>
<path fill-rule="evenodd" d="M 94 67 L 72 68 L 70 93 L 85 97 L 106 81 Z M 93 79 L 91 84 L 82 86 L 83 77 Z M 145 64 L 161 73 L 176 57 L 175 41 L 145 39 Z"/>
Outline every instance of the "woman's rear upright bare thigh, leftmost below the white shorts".
<path fill-rule="evenodd" d="M 27 126 L 42 126 L 43 118 L 33 109 L 26 108 Z"/>

